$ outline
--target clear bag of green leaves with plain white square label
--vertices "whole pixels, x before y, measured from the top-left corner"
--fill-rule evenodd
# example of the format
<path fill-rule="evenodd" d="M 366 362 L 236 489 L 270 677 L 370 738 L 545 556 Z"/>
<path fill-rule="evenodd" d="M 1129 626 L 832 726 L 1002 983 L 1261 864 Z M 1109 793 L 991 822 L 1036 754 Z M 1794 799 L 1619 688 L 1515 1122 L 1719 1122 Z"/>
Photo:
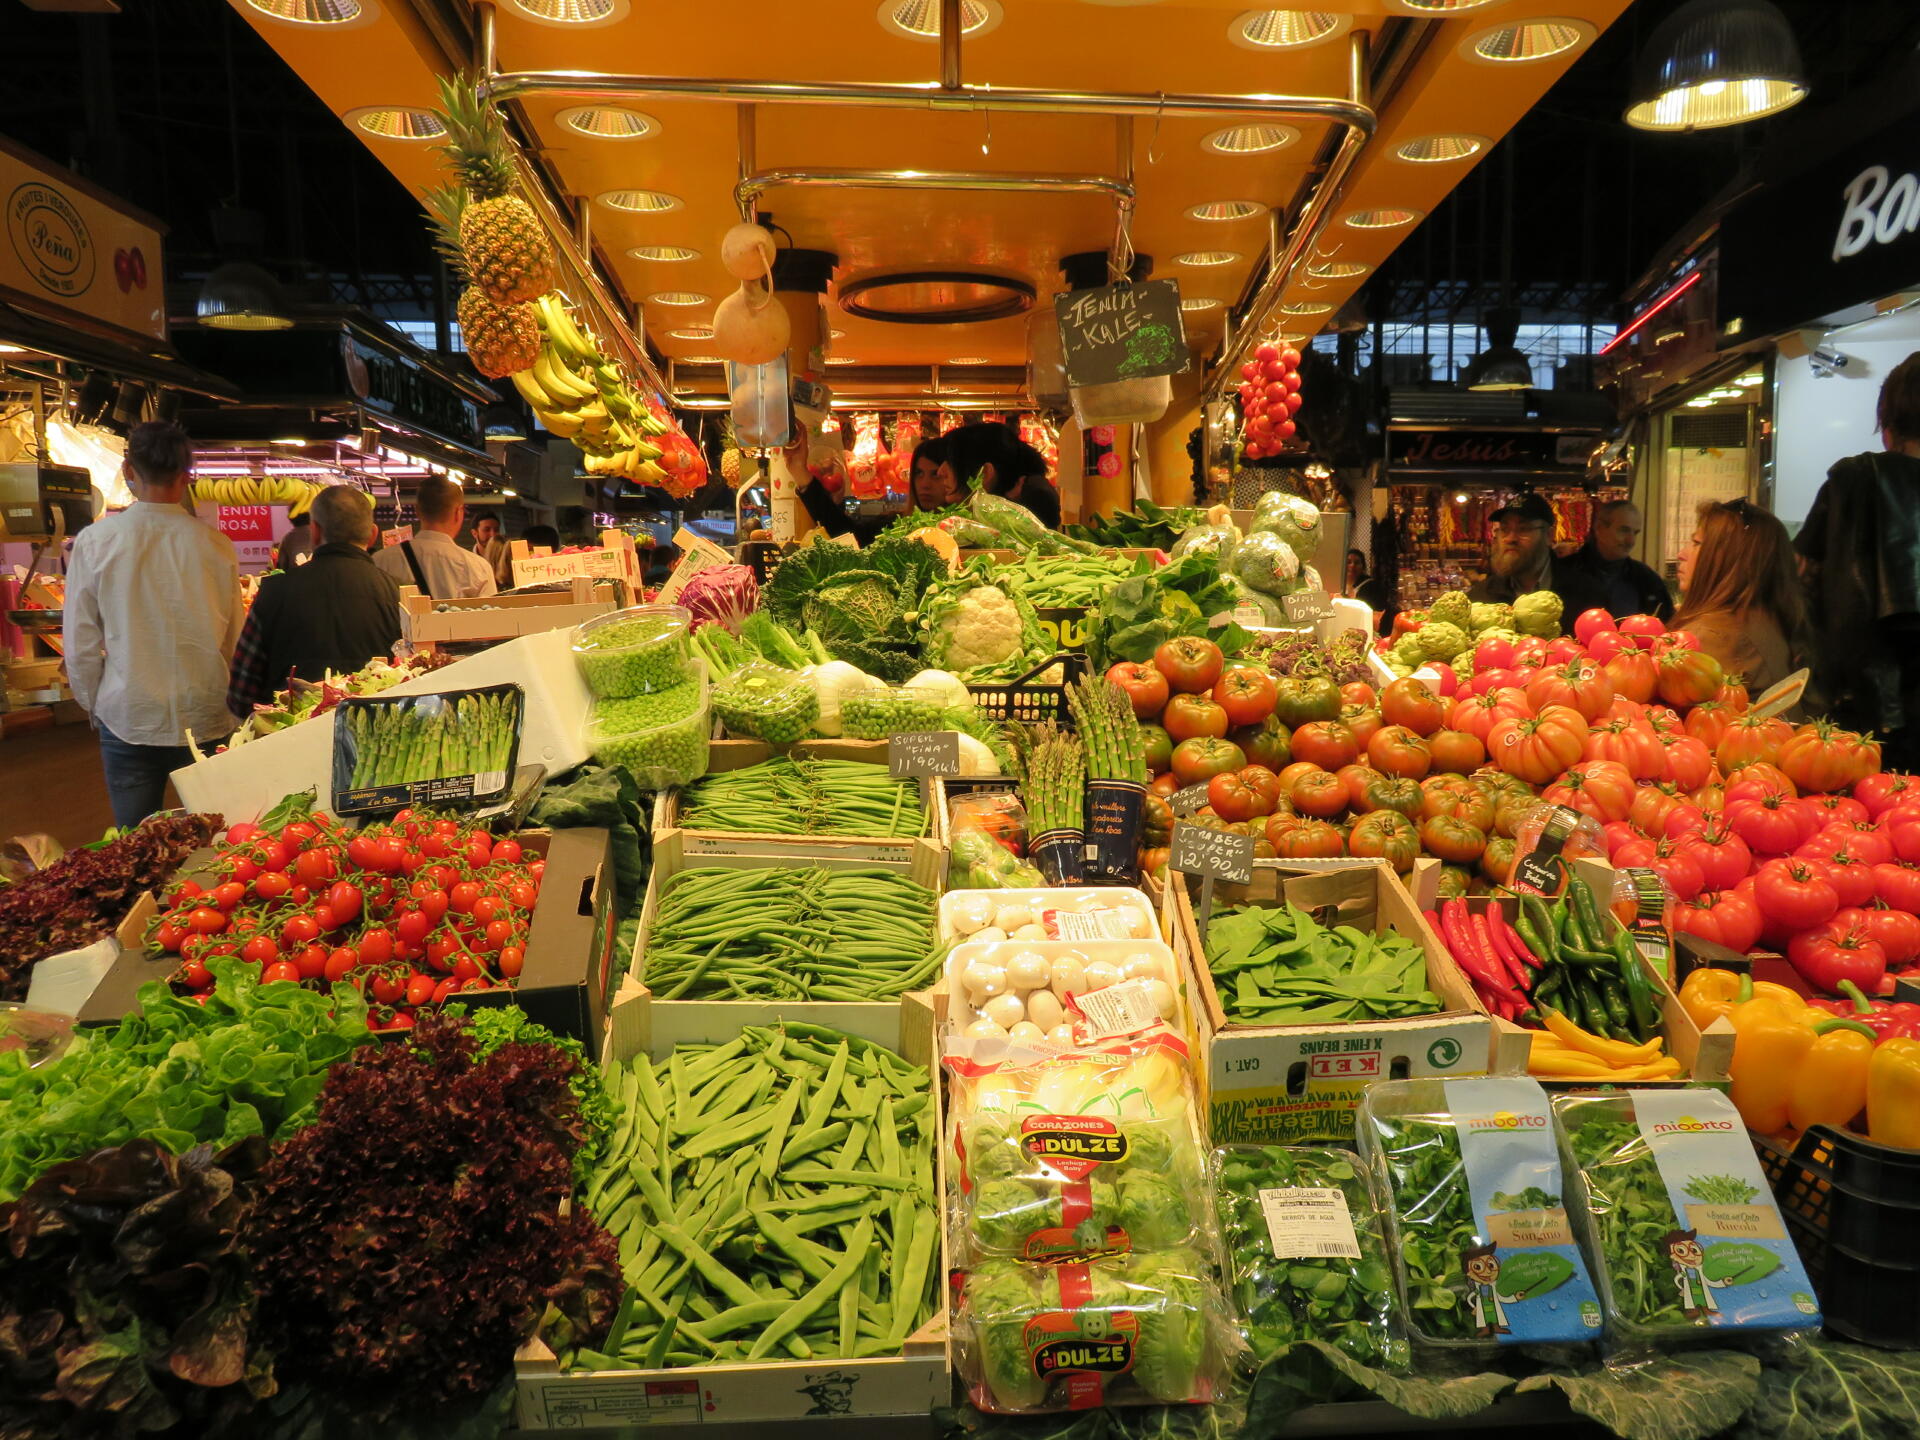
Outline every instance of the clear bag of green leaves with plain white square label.
<path fill-rule="evenodd" d="M 1409 1352 L 1367 1171 L 1348 1150 L 1227 1144 L 1213 1152 L 1227 1288 L 1256 1361 L 1325 1340 L 1361 1365 Z"/>

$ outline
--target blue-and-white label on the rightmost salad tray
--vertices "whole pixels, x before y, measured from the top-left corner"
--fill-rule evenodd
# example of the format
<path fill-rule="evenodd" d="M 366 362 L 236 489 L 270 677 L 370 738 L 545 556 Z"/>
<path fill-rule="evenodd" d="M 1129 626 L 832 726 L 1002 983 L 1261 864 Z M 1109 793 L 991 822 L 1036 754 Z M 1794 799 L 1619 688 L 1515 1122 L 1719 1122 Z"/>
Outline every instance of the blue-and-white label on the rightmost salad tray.
<path fill-rule="evenodd" d="M 1818 1325 L 1812 1284 L 1734 1102 L 1705 1089 L 1630 1094 L 1680 1221 L 1657 1236 L 1680 1313 L 1707 1327 Z"/>

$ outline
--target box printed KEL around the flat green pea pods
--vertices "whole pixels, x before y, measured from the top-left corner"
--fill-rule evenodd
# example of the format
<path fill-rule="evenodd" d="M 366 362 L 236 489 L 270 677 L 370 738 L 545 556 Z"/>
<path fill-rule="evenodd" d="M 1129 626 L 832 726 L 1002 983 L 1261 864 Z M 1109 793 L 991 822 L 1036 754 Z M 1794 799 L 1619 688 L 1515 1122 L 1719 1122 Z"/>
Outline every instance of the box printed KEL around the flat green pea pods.
<path fill-rule="evenodd" d="M 1352 1142 L 1354 1112 L 1369 1083 L 1488 1071 L 1490 1020 L 1390 866 L 1367 860 L 1311 868 L 1256 860 L 1254 866 L 1261 887 L 1254 904 L 1284 897 L 1308 910 L 1336 906 L 1338 924 L 1417 941 L 1427 952 L 1427 985 L 1442 1010 L 1373 1023 L 1229 1023 L 1187 887 L 1167 885 L 1164 904 L 1171 910 L 1175 948 L 1185 947 L 1200 987 L 1200 1087 L 1213 1144 Z"/>

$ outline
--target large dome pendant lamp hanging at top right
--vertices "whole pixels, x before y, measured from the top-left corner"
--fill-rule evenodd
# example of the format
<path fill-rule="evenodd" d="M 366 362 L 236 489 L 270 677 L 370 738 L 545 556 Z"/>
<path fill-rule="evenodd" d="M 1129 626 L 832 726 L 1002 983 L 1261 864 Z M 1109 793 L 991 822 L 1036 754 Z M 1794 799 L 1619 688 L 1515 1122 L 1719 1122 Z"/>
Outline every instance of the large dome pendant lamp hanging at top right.
<path fill-rule="evenodd" d="M 1636 131 L 1713 131 L 1805 98 L 1793 27 L 1770 0 L 1690 0 L 1640 50 L 1622 119 Z"/>

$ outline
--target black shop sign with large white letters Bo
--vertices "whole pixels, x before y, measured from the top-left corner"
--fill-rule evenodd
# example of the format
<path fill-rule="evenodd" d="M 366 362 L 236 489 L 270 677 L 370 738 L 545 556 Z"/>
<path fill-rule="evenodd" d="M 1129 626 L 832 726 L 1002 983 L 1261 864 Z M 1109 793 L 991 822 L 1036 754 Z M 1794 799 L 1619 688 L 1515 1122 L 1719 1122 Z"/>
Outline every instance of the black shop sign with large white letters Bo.
<path fill-rule="evenodd" d="M 1755 190 L 1720 219 L 1718 324 L 1780 334 L 1920 282 L 1914 113 Z"/>

